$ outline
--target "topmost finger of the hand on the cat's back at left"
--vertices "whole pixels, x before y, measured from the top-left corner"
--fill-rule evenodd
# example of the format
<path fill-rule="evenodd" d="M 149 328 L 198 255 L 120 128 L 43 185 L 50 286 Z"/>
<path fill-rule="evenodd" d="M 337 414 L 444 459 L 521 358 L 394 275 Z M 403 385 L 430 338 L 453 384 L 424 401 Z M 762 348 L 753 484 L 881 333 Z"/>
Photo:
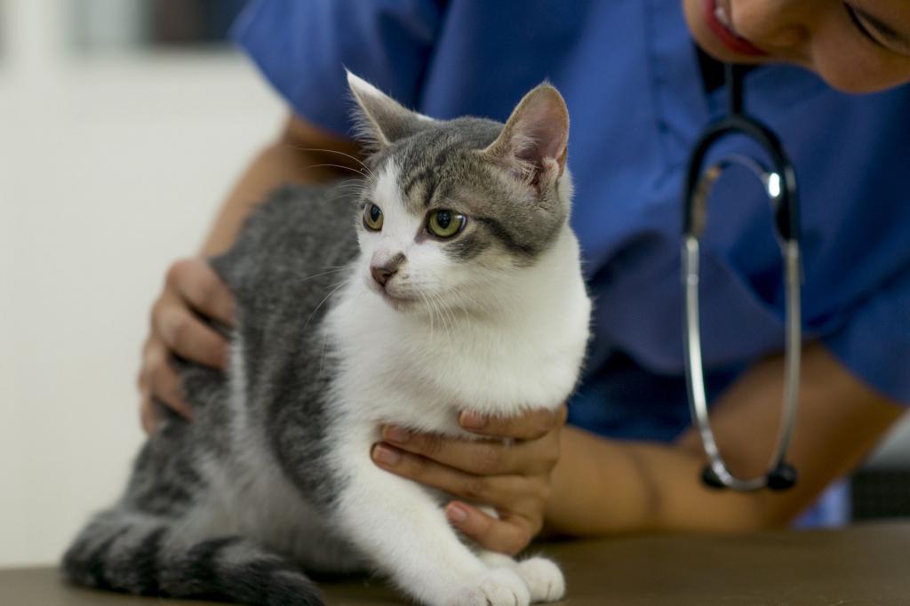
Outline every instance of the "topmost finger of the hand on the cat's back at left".
<path fill-rule="evenodd" d="M 234 296 L 204 259 L 177 261 L 167 270 L 166 283 L 201 315 L 234 324 Z"/>

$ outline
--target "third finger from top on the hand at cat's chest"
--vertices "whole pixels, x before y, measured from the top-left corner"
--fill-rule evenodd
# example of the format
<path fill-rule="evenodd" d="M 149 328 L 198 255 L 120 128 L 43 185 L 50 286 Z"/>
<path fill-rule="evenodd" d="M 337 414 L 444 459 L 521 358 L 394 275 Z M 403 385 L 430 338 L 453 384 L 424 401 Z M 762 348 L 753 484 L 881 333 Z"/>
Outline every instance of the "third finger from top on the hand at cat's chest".
<path fill-rule="evenodd" d="M 441 465 L 434 460 L 396 449 L 388 444 L 376 444 L 370 452 L 379 467 L 410 478 L 461 499 L 482 502 L 497 508 L 509 508 L 516 502 L 541 499 L 547 490 L 545 483 L 525 476 L 475 476 Z"/>

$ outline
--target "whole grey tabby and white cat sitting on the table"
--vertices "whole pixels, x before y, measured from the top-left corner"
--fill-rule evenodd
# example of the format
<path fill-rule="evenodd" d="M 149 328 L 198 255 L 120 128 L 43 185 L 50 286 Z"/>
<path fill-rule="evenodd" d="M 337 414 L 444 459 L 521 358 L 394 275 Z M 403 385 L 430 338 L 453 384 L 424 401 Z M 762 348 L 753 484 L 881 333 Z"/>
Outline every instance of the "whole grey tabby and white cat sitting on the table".
<path fill-rule="evenodd" d="M 305 571 L 372 570 L 430 605 L 562 597 L 552 561 L 466 544 L 445 495 L 369 451 L 382 424 L 470 439 L 460 410 L 553 409 L 575 386 L 590 301 L 565 104 L 541 85 L 505 126 L 438 121 L 349 86 L 366 177 L 284 188 L 212 260 L 238 301 L 230 370 L 180 364 L 194 421 L 163 411 L 125 495 L 66 552 L 71 581 L 319 604 Z"/>

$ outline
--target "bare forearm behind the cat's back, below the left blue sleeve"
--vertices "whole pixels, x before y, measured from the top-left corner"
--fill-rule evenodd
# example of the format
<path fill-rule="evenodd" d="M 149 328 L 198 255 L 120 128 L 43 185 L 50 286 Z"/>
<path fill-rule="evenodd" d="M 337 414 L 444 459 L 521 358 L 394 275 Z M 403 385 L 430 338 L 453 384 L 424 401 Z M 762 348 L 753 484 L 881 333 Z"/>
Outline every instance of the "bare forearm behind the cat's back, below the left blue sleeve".
<path fill-rule="evenodd" d="M 278 141 L 259 152 L 227 195 L 202 254 L 210 256 L 227 250 L 250 211 L 276 187 L 287 183 L 323 184 L 345 177 L 354 162 L 346 154 L 357 154 L 357 147 L 292 118 Z"/>

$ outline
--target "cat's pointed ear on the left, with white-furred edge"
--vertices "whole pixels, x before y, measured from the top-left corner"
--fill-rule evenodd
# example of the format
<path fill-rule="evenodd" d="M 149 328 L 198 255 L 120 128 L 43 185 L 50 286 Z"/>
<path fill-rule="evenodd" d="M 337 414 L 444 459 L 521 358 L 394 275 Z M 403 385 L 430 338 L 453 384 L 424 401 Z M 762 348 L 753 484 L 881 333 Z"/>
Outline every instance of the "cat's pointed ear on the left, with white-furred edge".
<path fill-rule="evenodd" d="M 358 138 L 381 149 L 430 126 L 433 119 L 412 112 L 363 78 L 348 72 L 348 86 L 359 106 Z"/>

